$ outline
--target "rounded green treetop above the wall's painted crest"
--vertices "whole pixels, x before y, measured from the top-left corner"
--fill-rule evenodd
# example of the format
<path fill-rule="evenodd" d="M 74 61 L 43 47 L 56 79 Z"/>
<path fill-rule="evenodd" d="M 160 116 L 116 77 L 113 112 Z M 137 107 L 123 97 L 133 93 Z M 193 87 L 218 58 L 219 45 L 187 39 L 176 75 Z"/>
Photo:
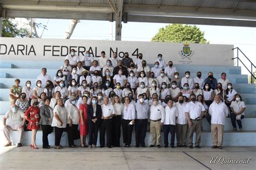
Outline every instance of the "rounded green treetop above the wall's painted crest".
<path fill-rule="evenodd" d="M 171 43 L 209 43 L 204 38 L 204 31 L 197 26 L 183 24 L 169 24 L 160 28 L 151 39 L 152 42 Z"/>

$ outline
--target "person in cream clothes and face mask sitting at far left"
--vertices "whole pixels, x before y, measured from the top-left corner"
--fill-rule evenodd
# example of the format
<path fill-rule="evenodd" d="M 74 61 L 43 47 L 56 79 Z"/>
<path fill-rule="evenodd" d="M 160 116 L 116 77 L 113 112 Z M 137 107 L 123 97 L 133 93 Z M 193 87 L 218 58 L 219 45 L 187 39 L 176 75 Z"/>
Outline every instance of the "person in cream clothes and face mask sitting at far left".
<path fill-rule="evenodd" d="M 6 121 L 8 120 L 8 121 Z M 22 110 L 18 108 L 15 104 L 11 104 L 11 108 L 5 113 L 3 117 L 3 133 L 5 140 L 7 143 L 4 145 L 11 146 L 11 138 L 10 138 L 10 132 L 11 131 L 17 131 L 18 132 L 18 145 L 17 147 L 22 146 L 22 138 L 24 133 L 24 125 L 25 125 L 25 117 Z"/>

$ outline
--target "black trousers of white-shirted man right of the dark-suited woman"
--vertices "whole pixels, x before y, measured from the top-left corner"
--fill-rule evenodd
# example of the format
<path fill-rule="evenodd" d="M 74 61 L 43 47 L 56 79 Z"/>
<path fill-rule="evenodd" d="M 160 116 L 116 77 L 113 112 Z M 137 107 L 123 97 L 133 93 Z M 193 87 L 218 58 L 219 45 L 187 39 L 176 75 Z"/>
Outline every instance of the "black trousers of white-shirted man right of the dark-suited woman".
<path fill-rule="evenodd" d="M 99 143 L 101 147 L 105 146 L 105 133 L 107 136 L 106 145 L 111 146 L 112 119 L 103 119 L 99 128 Z"/>

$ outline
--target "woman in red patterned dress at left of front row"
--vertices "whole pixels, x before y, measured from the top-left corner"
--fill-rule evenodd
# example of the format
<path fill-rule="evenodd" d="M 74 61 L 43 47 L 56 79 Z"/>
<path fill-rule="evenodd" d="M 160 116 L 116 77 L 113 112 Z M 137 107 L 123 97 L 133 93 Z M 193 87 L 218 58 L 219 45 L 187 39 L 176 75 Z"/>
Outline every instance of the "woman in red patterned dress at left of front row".
<path fill-rule="evenodd" d="M 28 129 L 32 130 L 32 139 L 30 147 L 38 149 L 36 145 L 36 133 L 39 129 L 39 120 L 40 120 L 40 109 L 38 107 L 38 100 L 34 98 L 31 100 L 31 106 L 25 112 L 25 118 L 29 121 Z"/>

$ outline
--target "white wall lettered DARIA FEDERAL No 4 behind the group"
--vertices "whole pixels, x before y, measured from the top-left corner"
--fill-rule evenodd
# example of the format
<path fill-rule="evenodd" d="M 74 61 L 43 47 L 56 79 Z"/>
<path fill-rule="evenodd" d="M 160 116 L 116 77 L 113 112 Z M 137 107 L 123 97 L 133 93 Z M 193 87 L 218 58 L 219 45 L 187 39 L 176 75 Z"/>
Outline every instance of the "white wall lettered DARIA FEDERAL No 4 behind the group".
<path fill-rule="evenodd" d="M 63 60 L 69 49 L 75 49 L 79 56 L 90 50 L 94 56 L 100 56 L 100 52 L 105 51 L 106 56 L 110 57 L 113 51 L 117 51 L 120 57 L 124 52 L 129 52 L 130 57 L 136 60 L 138 53 L 143 53 L 147 63 L 154 63 L 158 53 L 162 53 L 166 61 L 172 60 L 174 64 L 233 66 L 233 45 L 190 44 L 193 52 L 190 59 L 180 56 L 183 46 L 182 43 L 0 38 L 0 59 Z"/>

